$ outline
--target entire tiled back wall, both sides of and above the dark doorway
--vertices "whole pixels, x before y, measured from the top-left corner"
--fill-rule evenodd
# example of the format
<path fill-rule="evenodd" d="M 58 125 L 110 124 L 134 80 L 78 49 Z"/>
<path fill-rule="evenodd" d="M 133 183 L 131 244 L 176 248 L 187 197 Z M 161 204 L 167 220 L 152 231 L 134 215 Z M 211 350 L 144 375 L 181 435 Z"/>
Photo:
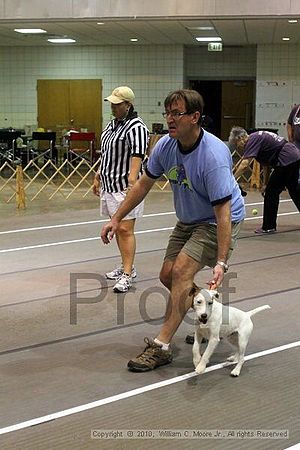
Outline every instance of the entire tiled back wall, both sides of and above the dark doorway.
<path fill-rule="evenodd" d="M 256 76 L 256 126 L 278 128 L 283 136 L 291 106 L 300 103 L 300 45 L 261 45 L 257 50 L 225 47 L 215 53 L 176 45 L 0 47 L 0 61 L 0 128 L 37 123 L 37 79 L 99 78 L 104 97 L 114 87 L 128 84 L 150 129 L 152 123 L 163 122 L 165 96 L 183 87 L 186 78 Z M 105 102 L 103 124 L 109 118 Z"/>

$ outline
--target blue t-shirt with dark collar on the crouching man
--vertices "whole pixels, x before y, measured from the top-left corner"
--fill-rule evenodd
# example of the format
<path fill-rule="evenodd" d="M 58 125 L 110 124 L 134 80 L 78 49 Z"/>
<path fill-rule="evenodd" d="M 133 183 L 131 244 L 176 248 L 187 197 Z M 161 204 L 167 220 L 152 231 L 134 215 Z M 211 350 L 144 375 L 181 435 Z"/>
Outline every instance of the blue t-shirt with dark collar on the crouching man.
<path fill-rule="evenodd" d="M 167 176 L 173 190 L 178 219 L 186 224 L 216 223 L 213 207 L 231 199 L 231 220 L 245 216 L 244 200 L 232 174 L 228 147 L 216 136 L 202 130 L 192 149 L 166 135 L 157 142 L 148 160 L 151 178 Z"/>

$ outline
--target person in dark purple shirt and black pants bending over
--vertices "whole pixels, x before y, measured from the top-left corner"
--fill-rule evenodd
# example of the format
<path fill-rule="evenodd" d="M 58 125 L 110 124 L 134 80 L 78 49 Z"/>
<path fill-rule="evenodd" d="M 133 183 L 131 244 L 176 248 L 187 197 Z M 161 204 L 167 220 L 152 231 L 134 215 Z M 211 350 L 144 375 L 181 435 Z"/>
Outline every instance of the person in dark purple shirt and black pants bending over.
<path fill-rule="evenodd" d="M 231 129 L 229 144 L 243 152 L 242 160 L 234 174 L 237 180 L 251 164 L 253 158 L 264 169 L 273 168 L 264 191 L 262 227 L 255 230 L 255 233 L 275 233 L 279 196 L 285 188 L 300 211 L 300 186 L 298 183 L 300 150 L 275 133 L 256 131 L 248 135 L 246 130 L 241 127 Z"/>

